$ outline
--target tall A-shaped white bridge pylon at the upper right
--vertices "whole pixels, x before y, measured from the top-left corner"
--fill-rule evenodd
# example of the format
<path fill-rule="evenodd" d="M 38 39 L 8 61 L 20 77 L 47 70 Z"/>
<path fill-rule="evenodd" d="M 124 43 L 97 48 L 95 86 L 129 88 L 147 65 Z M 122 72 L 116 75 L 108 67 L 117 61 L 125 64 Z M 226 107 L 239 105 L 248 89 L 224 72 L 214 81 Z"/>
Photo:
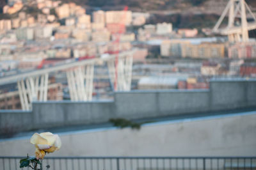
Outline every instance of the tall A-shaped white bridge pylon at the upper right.
<path fill-rule="evenodd" d="M 253 22 L 247 21 L 246 12 L 249 12 Z M 220 28 L 227 13 L 228 25 L 225 28 Z M 235 22 L 236 17 L 241 18 L 241 22 L 238 25 Z M 244 0 L 230 0 L 212 31 L 221 35 L 227 35 L 229 42 L 248 42 L 248 31 L 252 29 L 256 29 L 256 17 L 253 15 L 248 4 Z"/>

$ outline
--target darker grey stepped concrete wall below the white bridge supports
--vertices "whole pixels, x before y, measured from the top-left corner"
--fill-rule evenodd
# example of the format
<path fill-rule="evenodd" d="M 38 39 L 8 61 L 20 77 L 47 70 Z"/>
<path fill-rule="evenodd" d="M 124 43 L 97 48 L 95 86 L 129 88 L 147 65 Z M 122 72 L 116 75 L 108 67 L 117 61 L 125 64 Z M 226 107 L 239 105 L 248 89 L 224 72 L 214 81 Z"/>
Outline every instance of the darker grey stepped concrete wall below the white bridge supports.
<path fill-rule="evenodd" d="M 256 107 L 256 80 L 211 81 L 209 90 L 115 93 L 109 102 L 35 102 L 33 111 L 0 112 L 0 128 L 33 130 L 107 122 L 109 118 L 154 118 Z"/>

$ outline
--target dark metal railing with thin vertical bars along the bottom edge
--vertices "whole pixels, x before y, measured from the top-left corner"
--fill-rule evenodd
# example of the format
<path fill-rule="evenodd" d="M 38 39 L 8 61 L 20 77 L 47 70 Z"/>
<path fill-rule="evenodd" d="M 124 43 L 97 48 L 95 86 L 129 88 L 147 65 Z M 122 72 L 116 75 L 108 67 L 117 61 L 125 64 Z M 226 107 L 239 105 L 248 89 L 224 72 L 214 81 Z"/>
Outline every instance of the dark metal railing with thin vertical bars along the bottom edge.
<path fill-rule="evenodd" d="M 20 158 L 0 157 L 0 169 L 20 169 Z M 47 165 L 54 170 L 231 170 L 256 169 L 256 157 L 45 157 L 43 169 Z"/>

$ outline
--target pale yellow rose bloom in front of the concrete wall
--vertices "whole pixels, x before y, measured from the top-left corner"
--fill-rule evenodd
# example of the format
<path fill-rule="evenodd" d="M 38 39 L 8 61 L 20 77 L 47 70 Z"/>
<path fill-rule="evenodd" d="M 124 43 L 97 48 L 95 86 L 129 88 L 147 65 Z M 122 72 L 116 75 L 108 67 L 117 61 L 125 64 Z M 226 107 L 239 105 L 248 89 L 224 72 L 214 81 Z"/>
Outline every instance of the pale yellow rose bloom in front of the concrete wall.
<path fill-rule="evenodd" d="M 54 135 L 51 132 L 35 133 L 30 139 L 31 144 L 35 144 L 36 158 L 44 158 L 45 152 L 52 153 L 59 150 L 61 147 L 61 140 L 58 135 Z"/>

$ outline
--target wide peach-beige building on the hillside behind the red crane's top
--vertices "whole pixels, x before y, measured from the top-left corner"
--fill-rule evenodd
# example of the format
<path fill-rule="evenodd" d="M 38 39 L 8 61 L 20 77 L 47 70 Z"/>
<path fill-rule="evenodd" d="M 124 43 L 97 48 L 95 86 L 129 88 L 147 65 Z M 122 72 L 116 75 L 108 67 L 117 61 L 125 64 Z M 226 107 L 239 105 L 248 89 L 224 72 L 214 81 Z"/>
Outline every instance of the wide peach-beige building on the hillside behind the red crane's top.
<path fill-rule="evenodd" d="M 131 11 L 108 11 L 106 12 L 106 24 L 125 24 L 131 25 L 132 12 Z"/>

